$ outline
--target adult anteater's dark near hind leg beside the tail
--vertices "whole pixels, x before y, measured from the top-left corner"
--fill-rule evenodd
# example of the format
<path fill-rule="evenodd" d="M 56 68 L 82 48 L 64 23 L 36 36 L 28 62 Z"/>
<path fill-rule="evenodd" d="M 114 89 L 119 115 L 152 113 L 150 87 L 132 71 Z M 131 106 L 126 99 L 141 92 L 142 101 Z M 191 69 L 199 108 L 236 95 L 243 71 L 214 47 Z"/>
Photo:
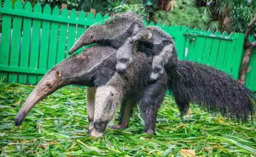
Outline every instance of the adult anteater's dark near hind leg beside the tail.
<path fill-rule="evenodd" d="M 149 85 L 140 100 L 140 112 L 145 121 L 145 133 L 155 134 L 157 111 L 165 97 L 166 85 L 164 78 Z"/>

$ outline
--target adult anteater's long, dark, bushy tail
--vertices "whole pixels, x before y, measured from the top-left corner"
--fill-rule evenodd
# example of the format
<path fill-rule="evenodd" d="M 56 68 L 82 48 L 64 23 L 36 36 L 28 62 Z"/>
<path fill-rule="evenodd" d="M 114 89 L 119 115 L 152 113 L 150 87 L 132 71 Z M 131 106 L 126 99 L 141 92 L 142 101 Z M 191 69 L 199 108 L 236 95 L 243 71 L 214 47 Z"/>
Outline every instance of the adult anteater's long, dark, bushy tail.
<path fill-rule="evenodd" d="M 247 121 L 250 117 L 253 120 L 253 93 L 225 72 L 182 60 L 167 73 L 169 90 L 173 91 L 181 117 L 187 112 L 189 103 L 194 103 L 210 113 L 220 113 L 235 121 Z"/>

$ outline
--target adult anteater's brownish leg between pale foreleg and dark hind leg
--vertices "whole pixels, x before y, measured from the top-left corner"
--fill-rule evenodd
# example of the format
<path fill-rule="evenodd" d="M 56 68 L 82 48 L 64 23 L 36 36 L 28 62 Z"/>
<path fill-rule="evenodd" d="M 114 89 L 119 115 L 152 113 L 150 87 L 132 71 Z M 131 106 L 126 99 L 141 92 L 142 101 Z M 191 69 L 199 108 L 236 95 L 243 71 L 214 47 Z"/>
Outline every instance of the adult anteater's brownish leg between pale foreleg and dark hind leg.
<path fill-rule="evenodd" d="M 114 126 L 111 126 L 110 128 L 118 130 L 128 127 L 130 116 L 135 106 L 135 103 L 136 102 L 134 98 L 130 98 L 126 102 L 122 103 L 121 117 L 119 119 L 119 123 Z"/>

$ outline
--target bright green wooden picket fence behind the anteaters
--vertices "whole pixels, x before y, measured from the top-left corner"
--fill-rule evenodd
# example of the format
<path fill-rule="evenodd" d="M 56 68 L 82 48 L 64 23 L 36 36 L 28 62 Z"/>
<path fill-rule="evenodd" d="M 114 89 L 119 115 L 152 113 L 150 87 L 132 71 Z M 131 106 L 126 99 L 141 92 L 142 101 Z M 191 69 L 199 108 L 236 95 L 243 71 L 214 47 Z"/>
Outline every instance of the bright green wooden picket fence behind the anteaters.
<path fill-rule="evenodd" d="M 91 12 L 60 11 L 58 7 L 51 10 L 49 5 L 42 8 L 39 3 L 32 8 L 29 1 L 23 6 L 19 0 L 14 6 L 11 0 L 5 0 L 0 13 L 0 77 L 6 82 L 22 84 L 39 82 L 45 72 L 68 57 L 67 50 L 83 31 L 109 18 L 100 13 L 94 17 Z M 144 24 L 155 25 L 146 21 Z M 181 60 L 216 66 L 238 78 L 244 34 L 156 25 L 173 36 Z M 253 53 L 246 82 L 253 91 L 256 91 L 255 63 L 256 53 Z"/>

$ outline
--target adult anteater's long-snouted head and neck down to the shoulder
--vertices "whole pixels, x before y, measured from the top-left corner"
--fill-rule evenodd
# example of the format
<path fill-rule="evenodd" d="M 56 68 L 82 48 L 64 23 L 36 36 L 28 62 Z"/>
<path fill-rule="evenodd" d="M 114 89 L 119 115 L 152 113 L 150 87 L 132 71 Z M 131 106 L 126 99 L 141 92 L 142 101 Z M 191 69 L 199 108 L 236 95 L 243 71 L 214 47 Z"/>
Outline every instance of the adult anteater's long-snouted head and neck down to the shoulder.
<path fill-rule="evenodd" d="M 24 117 L 40 100 L 62 86 L 70 84 L 93 86 L 108 82 L 115 73 L 115 53 L 115 48 L 95 45 L 52 67 L 15 116 L 15 125 L 21 125 Z"/>

